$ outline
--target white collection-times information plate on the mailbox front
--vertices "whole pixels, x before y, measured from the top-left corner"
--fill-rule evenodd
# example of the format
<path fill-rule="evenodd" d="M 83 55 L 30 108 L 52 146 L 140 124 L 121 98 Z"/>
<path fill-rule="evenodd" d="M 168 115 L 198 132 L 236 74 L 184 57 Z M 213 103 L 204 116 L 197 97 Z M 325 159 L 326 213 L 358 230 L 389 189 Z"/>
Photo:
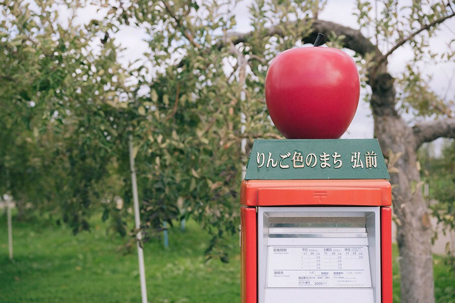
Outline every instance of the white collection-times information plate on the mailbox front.
<path fill-rule="evenodd" d="M 269 246 L 267 287 L 371 287 L 367 246 Z"/>

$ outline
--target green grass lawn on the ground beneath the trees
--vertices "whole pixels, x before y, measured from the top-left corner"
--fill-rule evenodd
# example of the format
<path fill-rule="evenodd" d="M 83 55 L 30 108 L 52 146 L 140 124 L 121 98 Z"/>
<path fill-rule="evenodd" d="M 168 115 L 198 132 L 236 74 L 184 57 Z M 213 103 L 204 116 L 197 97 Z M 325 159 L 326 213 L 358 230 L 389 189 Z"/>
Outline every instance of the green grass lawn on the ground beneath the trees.
<path fill-rule="evenodd" d="M 106 235 L 103 223 L 73 236 L 69 229 L 13 218 L 14 261 L 8 259 L 6 218 L 0 213 L 0 302 L 140 302 L 138 259 L 122 255 L 124 242 Z M 231 238 L 230 263 L 204 262 L 209 236 L 196 223 L 145 244 L 150 302 L 240 302 L 238 235 Z M 455 274 L 435 258 L 437 302 L 455 303 Z M 399 302 L 397 249 L 394 246 L 394 302 Z"/>

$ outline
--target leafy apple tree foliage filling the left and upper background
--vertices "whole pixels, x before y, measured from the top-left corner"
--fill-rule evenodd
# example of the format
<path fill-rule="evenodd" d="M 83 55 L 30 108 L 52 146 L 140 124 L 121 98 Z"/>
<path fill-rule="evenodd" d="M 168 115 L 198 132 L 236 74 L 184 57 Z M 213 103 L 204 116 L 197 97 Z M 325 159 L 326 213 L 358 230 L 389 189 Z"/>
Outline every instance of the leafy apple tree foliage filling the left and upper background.
<path fill-rule="evenodd" d="M 312 34 L 326 1 L 254 2 L 247 35 L 235 32 L 231 1 L 96 4 L 102 18 L 80 25 L 85 1 L 1 3 L 0 144 L 12 147 L 0 150 L 0 191 L 10 191 L 20 210 L 31 205 L 62 218 L 74 233 L 101 210 L 110 228 L 126 235 L 132 134 L 146 238 L 165 221 L 192 216 L 212 235 L 209 257 L 226 260 L 223 239 L 238 225 L 252 141 L 281 138 L 265 106 L 267 66 Z M 410 43 L 413 62 L 434 57 L 427 52 L 434 27 L 427 25 L 449 9 L 384 1 L 376 17 L 372 3 L 358 8 L 360 29 L 374 33 L 369 39 L 385 53 L 362 54 L 369 76 L 393 53 L 391 43 Z M 59 16 L 63 9 L 68 18 Z M 149 45 L 126 68 L 113 38 L 124 26 L 143 29 Z M 422 34 L 411 36 L 419 27 Z M 327 34 L 331 45 L 349 42 Z M 450 115 L 412 66 L 396 75 L 404 111 Z"/>

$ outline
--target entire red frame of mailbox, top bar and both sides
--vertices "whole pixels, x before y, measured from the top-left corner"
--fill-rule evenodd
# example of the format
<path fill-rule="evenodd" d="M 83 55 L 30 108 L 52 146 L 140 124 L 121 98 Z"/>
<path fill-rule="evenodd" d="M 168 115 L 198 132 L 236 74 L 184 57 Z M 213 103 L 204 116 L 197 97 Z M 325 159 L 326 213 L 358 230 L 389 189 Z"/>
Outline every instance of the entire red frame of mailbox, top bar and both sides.
<path fill-rule="evenodd" d="M 381 207 L 382 303 L 392 303 L 391 185 L 387 180 L 244 180 L 241 202 L 241 298 L 257 303 L 258 206 Z"/>

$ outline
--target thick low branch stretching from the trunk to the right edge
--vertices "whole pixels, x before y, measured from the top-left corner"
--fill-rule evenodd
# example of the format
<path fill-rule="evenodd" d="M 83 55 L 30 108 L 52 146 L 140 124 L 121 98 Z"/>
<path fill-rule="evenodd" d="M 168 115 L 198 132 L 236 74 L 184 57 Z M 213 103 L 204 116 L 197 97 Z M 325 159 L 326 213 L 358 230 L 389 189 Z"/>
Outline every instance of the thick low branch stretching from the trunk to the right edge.
<path fill-rule="evenodd" d="M 413 127 L 416 137 L 416 149 L 424 142 L 430 142 L 439 137 L 455 138 L 455 118 L 424 121 Z"/>

